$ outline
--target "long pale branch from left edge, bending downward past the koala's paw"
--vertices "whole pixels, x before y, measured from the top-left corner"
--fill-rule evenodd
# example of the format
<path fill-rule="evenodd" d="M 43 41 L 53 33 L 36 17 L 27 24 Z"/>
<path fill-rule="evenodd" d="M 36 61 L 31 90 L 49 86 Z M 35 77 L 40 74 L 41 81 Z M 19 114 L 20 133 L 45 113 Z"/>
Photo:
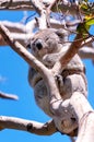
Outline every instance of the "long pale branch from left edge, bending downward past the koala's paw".
<path fill-rule="evenodd" d="M 61 99 L 51 70 L 48 70 L 40 61 L 38 61 L 32 54 L 30 54 L 20 43 L 15 42 L 10 36 L 10 32 L 8 31 L 8 28 L 5 28 L 2 24 L 0 25 L 0 33 L 2 34 L 4 40 L 10 45 L 10 47 L 15 52 L 17 52 L 30 66 L 32 66 L 35 70 L 37 70 L 42 74 L 43 79 L 46 81 L 48 92 L 49 94 L 51 94 L 50 97 L 52 102 L 55 102 L 56 99 Z M 57 95 L 54 96 L 56 92 Z"/>

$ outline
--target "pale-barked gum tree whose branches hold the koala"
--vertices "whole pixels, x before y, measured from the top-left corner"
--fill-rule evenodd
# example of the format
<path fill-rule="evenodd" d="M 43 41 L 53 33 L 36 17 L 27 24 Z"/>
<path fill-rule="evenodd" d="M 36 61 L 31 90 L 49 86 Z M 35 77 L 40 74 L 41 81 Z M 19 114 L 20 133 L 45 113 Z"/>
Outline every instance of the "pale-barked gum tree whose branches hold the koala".
<path fill-rule="evenodd" d="M 9 21 L 0 22 L 0 45 L 9 45 L 21 58 L 40 73 L 48 88 L 50 110 L 56 118 L 57 114 L 59 114 L 61 120 L 62 114 L 66 116 L 63 108 L 67 108 L 67 103 L 66 100 L 62 103 L 56 83 L 56 75 L 66 68 L 75 54 L 79 54 L 81 58 L 94 59 L 94 36 L 90 33 L 90 27 L 94 25 L 94 3 L 90 3 L 86 0 L 0 0 L 0 9 L 35 10 L 38 13 L 38 16 L 27 22 L 26 25 L 23 23 L 14 24 Z M 24 16 L 23 20 L 25 21 L 26 19 Z M 46 68 L 27 50 L 27 43 L 35 35 L 34 29 L 43 31 L 50 27 L 67 31 L 64 35 L 66 44 L 70 43 L 67 52 L 59 58 L 51 70 Z M 71 34 L 75 35 L 73 42 L 69 40 Z M 17 98 L 14 95 L 8 95 L 2 92 L 0 93 L 0 97 Z M 68 106 L 71 106 L 77 114 L 78 130 L 77 134 L 73 130 L 71 130 L 70 134 L 68 132 L 66 134 L 70 137 L 77 135 L 77 142 L 93 142 L 94 113 L 86 97 L 80 93 L 74 93 L 68 102 Z M 70 116 L 71 114 L 69 113 L 68 117 L 70 118 Z M 63 129 L 69 128 L 70 119 L 63 126 Z M 0 129 L 3 130 L 5 128 L 24 130 L 39 135 L 49 135 L 57 132 L 55 119 L 46 123 L 40 123 L 14 117 L 0 116 Z"/>

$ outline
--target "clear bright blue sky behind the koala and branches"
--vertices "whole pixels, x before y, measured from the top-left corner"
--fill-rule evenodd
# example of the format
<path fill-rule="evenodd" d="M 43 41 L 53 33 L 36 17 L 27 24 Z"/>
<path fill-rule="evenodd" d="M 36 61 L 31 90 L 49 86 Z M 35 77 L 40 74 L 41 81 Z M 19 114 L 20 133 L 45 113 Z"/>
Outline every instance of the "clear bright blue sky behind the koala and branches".
<path fill-rule="evenodd" d="M 21 21 L 22 12 L 0 11 L 0 21 Z M 94 29 L 92 29 L 94 33 Z M 84 60 L 86 66 L 86 76 L 89 81 L 89 100 L 94 107 L 94 66 L 91 60 Z M 0 99 L 0 115 L 20 117 L 30 120 L 46 122 L 50 118 L 46 116 L 35 104 L 33 90 L 27 82 L 28 64 L 21 59 L 9 46 L 0 47 L 0 90 L 7 93 L 16 94 L 20 99 L 5 100 Z M 69 138 L 55 133 L 50 137 L 39 137 L 23 131 L 3 130 L 0 131 L 0 141 L 2 142 L 70 142 Z"/>

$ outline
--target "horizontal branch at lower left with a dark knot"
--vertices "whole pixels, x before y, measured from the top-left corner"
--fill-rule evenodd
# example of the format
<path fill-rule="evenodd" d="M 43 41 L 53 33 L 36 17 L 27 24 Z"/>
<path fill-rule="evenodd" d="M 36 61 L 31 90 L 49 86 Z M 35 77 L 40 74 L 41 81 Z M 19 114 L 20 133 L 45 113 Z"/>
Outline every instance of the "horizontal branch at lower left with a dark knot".
<path fill-rule="evenodd" d="M 0 129 L 23 130 L 38 135 L 50 135 L 57 132 L 54 121 L 40 123 L 14 117 L 0 116 Z"/>

